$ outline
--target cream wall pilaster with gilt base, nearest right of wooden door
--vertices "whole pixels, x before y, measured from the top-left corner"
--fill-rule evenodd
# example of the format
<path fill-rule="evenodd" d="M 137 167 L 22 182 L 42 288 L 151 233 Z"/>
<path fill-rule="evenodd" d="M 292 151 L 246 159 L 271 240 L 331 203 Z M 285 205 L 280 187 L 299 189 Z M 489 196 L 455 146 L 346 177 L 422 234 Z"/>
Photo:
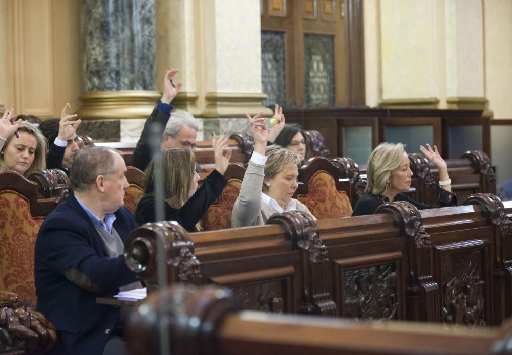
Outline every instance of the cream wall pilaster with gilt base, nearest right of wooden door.
<path fill-rule="evenodd" d="M 381 102 L 437 108 L 436 2 L 380 2 Z"/>

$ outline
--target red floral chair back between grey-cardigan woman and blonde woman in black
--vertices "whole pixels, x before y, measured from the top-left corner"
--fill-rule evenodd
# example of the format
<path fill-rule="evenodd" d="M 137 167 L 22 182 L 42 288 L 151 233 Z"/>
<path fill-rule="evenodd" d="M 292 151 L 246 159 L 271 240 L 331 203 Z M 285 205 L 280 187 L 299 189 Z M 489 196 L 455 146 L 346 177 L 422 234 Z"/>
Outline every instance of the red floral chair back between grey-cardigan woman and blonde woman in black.
<path fill-rule="evenodd" d="M 349 197 L 345 191 L 336 190 L 334 178 L 324 170 L 319 170 L 311 176 L 308 193 L 297 195 L 297 199 L 318 219 L 352 215 Z"/>

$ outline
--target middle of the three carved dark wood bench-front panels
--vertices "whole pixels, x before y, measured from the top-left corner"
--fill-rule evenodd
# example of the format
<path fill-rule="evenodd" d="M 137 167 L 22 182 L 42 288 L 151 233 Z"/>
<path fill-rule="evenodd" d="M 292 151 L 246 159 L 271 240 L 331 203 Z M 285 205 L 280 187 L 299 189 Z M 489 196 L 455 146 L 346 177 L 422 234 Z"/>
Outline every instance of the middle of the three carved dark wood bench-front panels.
<path fill-rule="evenodd" d="M 335 260 L 340 317 L 356 321 L 403 319 L 401 253 Z"/>

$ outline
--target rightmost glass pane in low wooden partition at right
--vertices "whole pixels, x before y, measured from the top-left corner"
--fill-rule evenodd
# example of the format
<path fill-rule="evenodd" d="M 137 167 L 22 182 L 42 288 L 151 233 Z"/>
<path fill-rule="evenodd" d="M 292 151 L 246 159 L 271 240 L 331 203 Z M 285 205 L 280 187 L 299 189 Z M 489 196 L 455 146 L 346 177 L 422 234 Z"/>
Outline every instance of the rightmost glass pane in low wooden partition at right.
<path fill-rule="evenodd" d="M 482 126 L 449 126 L 450 159 L 460 158 L 468 150 L 482 150 Z"/>

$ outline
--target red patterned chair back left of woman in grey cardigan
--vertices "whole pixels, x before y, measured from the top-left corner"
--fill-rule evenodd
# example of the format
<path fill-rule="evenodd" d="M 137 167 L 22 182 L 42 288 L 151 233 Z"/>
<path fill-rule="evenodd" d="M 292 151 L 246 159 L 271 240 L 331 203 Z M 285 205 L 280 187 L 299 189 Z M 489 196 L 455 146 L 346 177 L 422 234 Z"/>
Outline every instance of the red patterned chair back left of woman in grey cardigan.
<path fill-rule="evenodd" d="M 240 194 L 242 182 L 239 179 L 230 179 L 219 196 L 219 204 L 211 205 L 204 218 L 204 230 L 231 228 L 231 212 L 234 201 Z"/>

